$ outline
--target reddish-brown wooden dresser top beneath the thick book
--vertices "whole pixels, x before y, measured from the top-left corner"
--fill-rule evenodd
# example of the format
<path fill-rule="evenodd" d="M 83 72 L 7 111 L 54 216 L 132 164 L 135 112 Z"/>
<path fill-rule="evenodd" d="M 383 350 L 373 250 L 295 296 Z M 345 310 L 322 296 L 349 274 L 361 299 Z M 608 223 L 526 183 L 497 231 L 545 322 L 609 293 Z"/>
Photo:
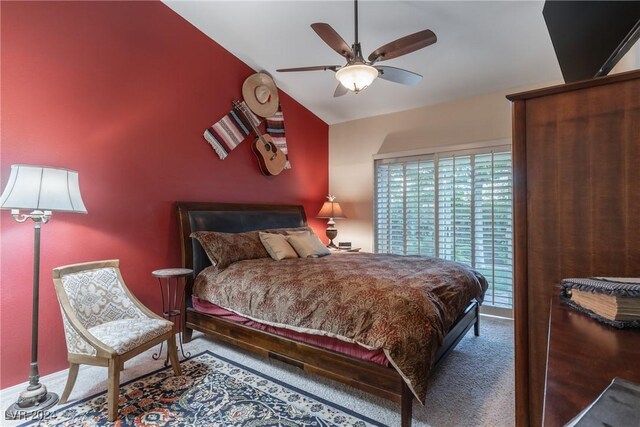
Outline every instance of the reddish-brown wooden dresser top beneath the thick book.
<path fill-rule="evenodd" d="M 557 296 L 549 320 L 545 427 L 565 425 L 615 377 L 640 384 L 640 329 L 604 325 Z"/>

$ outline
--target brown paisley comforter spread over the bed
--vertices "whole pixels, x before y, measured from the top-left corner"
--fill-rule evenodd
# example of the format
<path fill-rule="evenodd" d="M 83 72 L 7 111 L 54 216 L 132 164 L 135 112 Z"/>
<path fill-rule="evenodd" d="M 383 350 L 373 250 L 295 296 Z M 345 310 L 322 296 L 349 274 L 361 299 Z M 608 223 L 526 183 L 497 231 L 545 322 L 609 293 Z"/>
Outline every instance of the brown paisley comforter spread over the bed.
<path fill-rule="evenodd" d="M 209 267 L 194 295 L 265 324 L 382 348 L 424 403 L 438 347 L 486 288 L 482 275 L 452 261 L 337 253 Z"/>

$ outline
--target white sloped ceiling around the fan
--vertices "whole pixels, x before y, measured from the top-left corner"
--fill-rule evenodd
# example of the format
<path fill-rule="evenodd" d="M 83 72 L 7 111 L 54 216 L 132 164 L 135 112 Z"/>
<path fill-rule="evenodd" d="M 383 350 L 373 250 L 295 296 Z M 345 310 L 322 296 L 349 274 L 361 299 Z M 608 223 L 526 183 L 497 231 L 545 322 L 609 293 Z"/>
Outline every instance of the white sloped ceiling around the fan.
<path fill-rule="evenodd" d="M 376 80 L 358 95 L 333 98 L 331 71 L 277 68 L 344 65 L 311 29 L 330 24 L 354 40 L 351 1 L 167 1 L 165 3 L 328 124 L 407 110 L 562 78 L 542 17 L 542 1 L 360 1 L 363 54 L 431 29 L 438 42 L 385 61 L 424 76 L 417 86 Z"/>

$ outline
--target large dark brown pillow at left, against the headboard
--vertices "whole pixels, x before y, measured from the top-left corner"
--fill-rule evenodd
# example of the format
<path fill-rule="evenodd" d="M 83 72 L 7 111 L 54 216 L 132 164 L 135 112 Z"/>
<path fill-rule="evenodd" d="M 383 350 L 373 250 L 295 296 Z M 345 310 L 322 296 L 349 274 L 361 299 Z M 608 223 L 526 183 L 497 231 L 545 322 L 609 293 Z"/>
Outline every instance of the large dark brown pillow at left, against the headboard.
<path fill-rule="evenodd" d="M 198 239 L 211 263 L 219 269 L 244 259 L 268 258 L 257 231 L 246 233 L 218 233 L 196 231 L 190 237 Z"/>

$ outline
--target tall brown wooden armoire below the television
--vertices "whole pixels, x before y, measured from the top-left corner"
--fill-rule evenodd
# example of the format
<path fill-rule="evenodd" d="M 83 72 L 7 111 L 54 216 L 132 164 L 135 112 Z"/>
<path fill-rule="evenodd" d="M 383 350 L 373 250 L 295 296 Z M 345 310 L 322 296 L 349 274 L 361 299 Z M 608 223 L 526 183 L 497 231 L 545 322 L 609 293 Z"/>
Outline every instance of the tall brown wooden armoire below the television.
<path fill-rule="evenodd" d="M 560 280 L 640 277 L 640 71 L 507 98 L 513 101 L 516 423 L 539 426 L 549 303 Z"/>

